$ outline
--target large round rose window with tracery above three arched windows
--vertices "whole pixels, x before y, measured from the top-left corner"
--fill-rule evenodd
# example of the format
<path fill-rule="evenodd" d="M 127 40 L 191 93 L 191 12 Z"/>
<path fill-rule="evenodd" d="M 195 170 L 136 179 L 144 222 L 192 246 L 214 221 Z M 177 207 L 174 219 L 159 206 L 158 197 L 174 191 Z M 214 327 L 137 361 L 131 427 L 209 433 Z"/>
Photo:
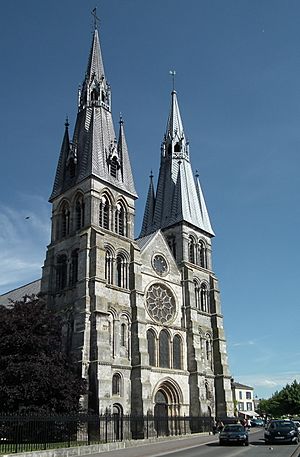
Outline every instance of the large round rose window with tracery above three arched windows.
<path fill-rule="evenodd" d="M 165 324 L 175 316 L 176 306 L 174 295 L 163 284 L 153 284 L 146 295 L 148 313 L 160 324 Z"/>

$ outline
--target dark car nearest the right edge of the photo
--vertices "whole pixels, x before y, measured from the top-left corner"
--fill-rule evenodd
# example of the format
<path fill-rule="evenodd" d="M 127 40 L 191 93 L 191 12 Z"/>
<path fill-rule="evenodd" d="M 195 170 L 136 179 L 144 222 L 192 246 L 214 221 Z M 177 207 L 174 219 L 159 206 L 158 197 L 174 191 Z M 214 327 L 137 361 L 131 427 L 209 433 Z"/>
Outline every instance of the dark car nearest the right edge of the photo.
<path fill-rule="evenodd" d="M 299 443 L 299 431 L 293 421 L 272 419 L 265 430 L 266 443 Z"/>

